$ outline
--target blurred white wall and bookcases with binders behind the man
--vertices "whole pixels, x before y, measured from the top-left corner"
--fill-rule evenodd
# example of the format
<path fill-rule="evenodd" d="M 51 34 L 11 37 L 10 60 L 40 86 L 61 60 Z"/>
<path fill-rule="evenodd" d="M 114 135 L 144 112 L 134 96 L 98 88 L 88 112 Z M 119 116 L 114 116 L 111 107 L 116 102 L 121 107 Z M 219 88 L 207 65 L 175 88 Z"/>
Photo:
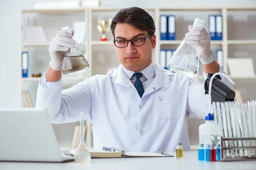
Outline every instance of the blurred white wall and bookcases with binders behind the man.
<path fill-rule="evenodd" d="M 49 42 L 62 27 L 70 26 L 75 31 L 73 38 L 90 65 L 87 71 L 63 74 L 63 89 L 117 68 L 120 62 L 114 51 L 113 35 L 106 31 L 108 40 L 102 40 L 101 21 L 108 22 L 120 8 L 132 6 L 144 8 L 153 17 L 157 28 L 153 61 L 164 68 L 187 33 L 187 26 L 193 24 L 195 17 L 205 20 L 204 27 L 212 33 L 211 46 L 216 59 L 236 83 L 237 102 L 256 100 L 256 0 L 82 1 L 91 3 L 73 0 L 69 7 L 62 9 L 60 4 L 64 0 L 0 0 L 0 108 L 35 107 L 40 77 L 49 66 Z M 41 9 L 49 2 L 52 6 Z M 54 2 L 58 3 L 57 7 Z M 173 36 L 160 36 L 161 30 L 169 31 L 161 28 L 167 24 L 162 23 L 161 16 L 173 17 Z M 216 17 L 220 19 L 218 22 Z M 221 28 L 220 36 L 215 27 Z M 204 82 L 201 63 L 196 78 Z M 204 119 L 188 119 L 192 150 L 198 150 L 198 128 L 204 122 Z M 93 147 L 92 127 L 88 121 L 85 125 L 87 147 Z M 52 126 L 61 150 L 78 146 L 79 122 Z"/>

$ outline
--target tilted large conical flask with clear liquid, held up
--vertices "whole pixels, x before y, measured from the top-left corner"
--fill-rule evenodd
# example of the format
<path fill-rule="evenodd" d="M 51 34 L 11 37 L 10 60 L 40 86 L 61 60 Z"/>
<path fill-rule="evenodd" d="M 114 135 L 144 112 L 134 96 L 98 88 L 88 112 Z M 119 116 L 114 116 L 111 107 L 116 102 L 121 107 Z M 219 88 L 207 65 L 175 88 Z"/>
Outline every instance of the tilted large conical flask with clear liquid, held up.
<path fill-rule="evenodd" d="M 204 20 L 195 18 L 193 28 L 203 27 L 204 23 Z M 175 73 L 195 78 L 198 75 L 199 51 L 196 50 L 194 45 L 188 45 L 183 40 L 173 53 L 166 67 Z"/>

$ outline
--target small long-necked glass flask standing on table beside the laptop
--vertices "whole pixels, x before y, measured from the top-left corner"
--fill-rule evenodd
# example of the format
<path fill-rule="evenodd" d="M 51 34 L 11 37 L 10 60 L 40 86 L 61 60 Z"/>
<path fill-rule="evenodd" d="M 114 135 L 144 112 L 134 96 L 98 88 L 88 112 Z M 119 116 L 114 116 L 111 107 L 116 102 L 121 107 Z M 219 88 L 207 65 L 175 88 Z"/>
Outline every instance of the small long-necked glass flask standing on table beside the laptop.
<path fill-rule="evenodd" d="M 75 161 L 76 162 L 90 162 L 91 155 L 87 150 L 87 147 L 84 143 L 84 118 L 83 113 L 80 113 L 80 143 L 76 149 Z"/>

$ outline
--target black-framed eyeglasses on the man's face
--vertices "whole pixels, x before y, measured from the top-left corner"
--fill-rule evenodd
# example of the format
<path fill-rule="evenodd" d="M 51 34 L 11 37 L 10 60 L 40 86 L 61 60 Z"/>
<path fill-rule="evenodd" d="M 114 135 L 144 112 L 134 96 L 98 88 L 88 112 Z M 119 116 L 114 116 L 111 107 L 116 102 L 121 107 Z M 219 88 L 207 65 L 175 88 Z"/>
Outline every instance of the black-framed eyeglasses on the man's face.
<path fill-rule="evenodd" d="M 147 40 L 151 35 L 148 35 L 145 38 L 134 38 L 131 40 L 114 40 L 116 47 L 124 48 L 127 47 L 128 43 L 131 42 L 133 46 L 141 46 L 145 44 L 145 40 Z"/>

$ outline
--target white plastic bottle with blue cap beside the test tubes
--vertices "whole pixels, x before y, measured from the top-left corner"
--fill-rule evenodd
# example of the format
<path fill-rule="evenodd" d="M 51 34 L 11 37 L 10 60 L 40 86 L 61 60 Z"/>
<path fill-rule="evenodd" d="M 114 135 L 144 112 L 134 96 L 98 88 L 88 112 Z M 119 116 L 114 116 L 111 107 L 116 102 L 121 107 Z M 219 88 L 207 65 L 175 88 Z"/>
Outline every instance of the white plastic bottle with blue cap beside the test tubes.
<path fill-rule="evenodd" d="M 199 144 L 204 144 L 204 146 L 210 144 L 210 135 L 217 135 L 217 133 L 214 116 L 208 113 L 208 116 L 205 116 L 205 123 L 199 126 Z"/>

